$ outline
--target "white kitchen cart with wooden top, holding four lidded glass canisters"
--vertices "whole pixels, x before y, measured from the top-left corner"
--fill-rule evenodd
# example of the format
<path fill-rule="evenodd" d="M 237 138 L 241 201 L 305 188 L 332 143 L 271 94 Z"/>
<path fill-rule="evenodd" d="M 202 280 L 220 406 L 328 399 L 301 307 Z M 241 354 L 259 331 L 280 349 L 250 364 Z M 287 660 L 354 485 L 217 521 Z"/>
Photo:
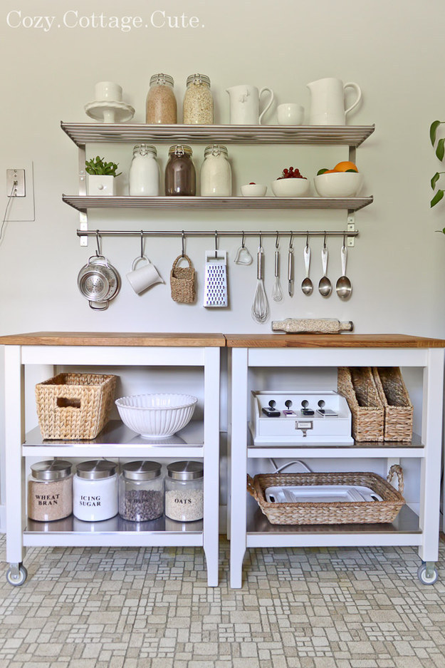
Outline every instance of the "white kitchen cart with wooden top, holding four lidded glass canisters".
<path fill-rule="evenodd" d="M 201 546 L 209 586 L 218 585 L 219 541 L 219 357 L 222 334 L 95 334 L 53 333 L 1 336 L 5 354 L 6 394 L 6 560 L 7 580 L 26 580 L 23 557 L 32 546 Z M 198 367 L 204 379 L 204 421 L 192 421 L 179 433 L 182 444 L 147 443 L 120 421 L 111 421 L 93 441 L 43 441 L 40 429 L 25 433 L 25 369 L 53 367 L 122 366 L 154 369 Z M 49 376 L 48 376 L 49 377 Z M 28 388 L 32 390 L 33 388 Z M 79 523 L 75 518 L 56 523 L 26 518 L 25 458 L 135 458 L 200 459 L 204 462 L 204 519 L 175 523 L 168 518 L 141 525 L 115 518 L 110 529 L 101 523 Z M 147 526 L 150 525 L 150 526 Z"/>

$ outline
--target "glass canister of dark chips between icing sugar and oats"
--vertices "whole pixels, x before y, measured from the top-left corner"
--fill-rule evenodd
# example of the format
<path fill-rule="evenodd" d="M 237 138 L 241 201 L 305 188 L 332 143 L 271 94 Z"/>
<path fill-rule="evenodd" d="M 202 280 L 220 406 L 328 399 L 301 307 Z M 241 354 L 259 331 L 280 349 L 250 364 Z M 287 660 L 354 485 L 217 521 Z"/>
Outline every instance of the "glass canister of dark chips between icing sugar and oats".
<path fill-rule="evenodd" d="M 164 478 L 156 461 L 130 461 L 119 478 L 119 514 L 132 522 L 148 522 L 164 514 Z"/>

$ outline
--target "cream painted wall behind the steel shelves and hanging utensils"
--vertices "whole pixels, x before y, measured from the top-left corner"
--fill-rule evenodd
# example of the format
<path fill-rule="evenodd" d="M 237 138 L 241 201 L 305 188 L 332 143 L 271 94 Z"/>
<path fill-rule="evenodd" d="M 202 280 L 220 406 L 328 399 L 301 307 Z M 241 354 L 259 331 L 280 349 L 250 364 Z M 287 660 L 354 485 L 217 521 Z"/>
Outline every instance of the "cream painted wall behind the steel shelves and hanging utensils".
<path fill-rule="evenodd" d="M 150 26 L 155 10 L 166 15 L 199 17 L 197 29 Z M 25 16 L 55 16 L 51 29 L 9 27 Z M 69 21 L 91 17 L 141 16 L 148 28 L 68 28 Z M 157 14 L 157 19 L 159 14 Z M 82 19 L 88 21 L 88 19 Z M 61 27 L 56 27 L 61 24 Z M 216 101 L 216 120 L 229 120 L 225 89 L 236 83 L 271 86 L 277 103 L 298 101 L 308 111 L 305 86 L 323 76 L 356 81 L 362 87 L 360 109 L 351 124 L 375 123 L 372 137 L 357 150 L 365 176 L 364 194 L 375 203 L 357 213 L 360 236 L 350 250 L 348 274 L 354 285 L 349 302 L 335 295 L 295 297 L 271 303 L 273 319 L 338 317 L 352 319 L 357 332 L 403 332 L 445 335 L 443 289 L 444 207 L 429 209 L 429 178 L 439 169 L 428 128 L 445 120 L 445 6 L 442 0 L 6 0 L 2 4 L 0 49 L 4 63 L 1 105 L 0 206 L 6 206 L 6 168 L 33 160 L 36 199 L 34 222 L 9 222 L 0 245 L 0 333 L 37 330 L 269 332 L 270 323 L 251 319 L 256 283 L 254 267 L 234 264 L 239 239 L 223 240 L 229 251 L 229 309 L 201 307 L 204 250 L 212 240 L 191 239 L 187 252 L 198 271 L 199 299 L 177 305 L 169 297 L 169 269 L 180 252 L 180 240 L 156 239 L 146 244 L 165 285 L 137 297 L 124 277 L 122 290 L 108 311 L 93 312 L 80 296 L 76 277 L 93 244 L 81 248 L 75 236 L 78 214 L 61 201 L 61 193 L 77 191 L 77 150 L 59 128 L 61 120 L 88 121 L 83 106 L 93 99 L 97 81 L 112 80 L 124 88 L 124 99 L 136 109 L 135 122 L 145 120 L 144 106 L 152 73 L 172 74 L 179 101 L 190 73 L 206 73 Z M 179 104 L 179 106 L 181 106 Z M 275 113 L 266 115 L 275 120 Z M 199 168 L 202 145 L 194 146 Z M 124 172 L 131 146 L 100 145 L 93 153 L 118 160 Z M 167 146 L 159 147 L 162 167 Z M 309 177 L 318 168 L 347 156 L 346 148 L 302 146 L 229 146 L 234 185 L 270 183 L 293 164 Z M 3 176 L 1 176 L 3 175 Z M 119 179 L 125 194 L 125 174 Z M 1 204 L 3 202 L 3 204 Z M 14 202 L 11 209 L 14 217 Z M 215 230 L 320 230 L 345 225 L 345 212 L 233 211 L 90 212 L 91 227 Z M 248 247 L 256 252 L 257 240 Z M 265 240 L 266 289 L 273 284 L 273 240 Z M 302 277 L 303 240 L 295 241 L 297 284 Z M 312 277 L 320 277 L 320 240 L 313 240 Z M 283 255 L 286 241 L 281 245 Z M 340 274 L 340 240 L 329 242 L 329 275 Z M 103 251 L 122 276 L 139 252 L 138 240 L 105 239 Z M 286 262 L 283 257 L 283 275 Z M 284 284 L 284 281 L 283 281 Z M 0 369 L 1 371 L 1 369 Z M 1 397 L 0 397 L 1 398 Z"/>

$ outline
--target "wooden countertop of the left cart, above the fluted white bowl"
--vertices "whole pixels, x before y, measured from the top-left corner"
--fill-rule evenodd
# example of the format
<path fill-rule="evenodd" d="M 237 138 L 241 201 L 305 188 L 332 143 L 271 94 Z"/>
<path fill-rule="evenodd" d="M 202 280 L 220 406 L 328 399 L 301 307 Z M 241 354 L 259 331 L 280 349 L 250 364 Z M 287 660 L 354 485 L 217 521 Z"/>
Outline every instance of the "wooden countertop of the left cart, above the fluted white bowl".
<path fill-rule="evenodd" d="M 6 346 L 184 346 L 224 348 L 223 334 L 145 332 L 30 332 L 0 336 Z"/>

